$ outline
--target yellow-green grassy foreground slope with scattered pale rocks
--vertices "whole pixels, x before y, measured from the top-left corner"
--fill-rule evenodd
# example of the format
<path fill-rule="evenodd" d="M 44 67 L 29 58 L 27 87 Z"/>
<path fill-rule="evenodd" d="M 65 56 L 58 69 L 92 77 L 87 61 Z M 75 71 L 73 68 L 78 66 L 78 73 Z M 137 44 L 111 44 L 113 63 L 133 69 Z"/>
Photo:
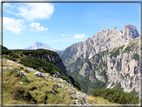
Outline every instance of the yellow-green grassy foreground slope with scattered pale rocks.
<path fill-rule="evenodd" d="M 3 59 L 3 104 L 116 104 L 100 97 L 88 96 L 66 80 Z"/>

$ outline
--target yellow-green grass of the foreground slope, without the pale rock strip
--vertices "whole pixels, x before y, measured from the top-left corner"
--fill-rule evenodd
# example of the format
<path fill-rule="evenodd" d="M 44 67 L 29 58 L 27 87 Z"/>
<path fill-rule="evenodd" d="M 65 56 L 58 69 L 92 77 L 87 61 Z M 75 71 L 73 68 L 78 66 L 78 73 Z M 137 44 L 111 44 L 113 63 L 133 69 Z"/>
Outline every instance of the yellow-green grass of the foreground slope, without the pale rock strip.
<path fill-rule="evenodd" d="M 36 71 L 26 72 L 27 67 L 22 64 L 3 62 L 4 67 L 8 67 L 11 64 L 11 70 L 3 69 L 3 104 L 74 104 L 74 98 L 70 96 L 67 90 L 62 87 L 54 87 L 54 83 L 60 82 L 59 79 L 52 80 L 49 77 L 40 78 L 36 77 L 34 73 Z M 22 68 L 23 67 L 23 68 Z M 21 68 L 21 69 L 19 69 Z M 30 81 L 28 83 L 23 77 L 18 76 L 14 69 L 24 71 L 24 75 Z M 45 75 L 45 73 L 42 73 Z M 48 73 L 46 73 L 48 74 Z M 23 84 L 20 84 L 22 82 Z M 39 83 L 38 83 L 39 82 Z M 66 88 L 69 86 L 65 85 L 64 82 L 60 82 Z M 52 89 L 56 91 L 56 95 L 52 93 Z M 81 91 L 73 88 L 76 92 Z M 99 98 L 88 96 L 88 102 L 91 104 L 112 104 L 109 101 Z M 47 100 L 47 101 L 46 101 Z M 114 104 L 114 103 L 113 103 Z"/>

